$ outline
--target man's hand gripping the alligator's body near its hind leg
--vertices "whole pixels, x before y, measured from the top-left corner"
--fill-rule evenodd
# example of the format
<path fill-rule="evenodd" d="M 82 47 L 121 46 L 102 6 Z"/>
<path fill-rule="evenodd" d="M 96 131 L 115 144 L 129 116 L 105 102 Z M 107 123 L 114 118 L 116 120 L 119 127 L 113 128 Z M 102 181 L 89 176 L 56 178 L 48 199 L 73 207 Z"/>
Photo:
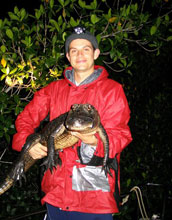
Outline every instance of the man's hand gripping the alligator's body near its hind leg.
<path fill-rule="evenodd" d="M 42 159 L 47 156 L 47 147 L 40 143 L 35 144 L 30 150 L 29 155 L 34 159 Z"/>

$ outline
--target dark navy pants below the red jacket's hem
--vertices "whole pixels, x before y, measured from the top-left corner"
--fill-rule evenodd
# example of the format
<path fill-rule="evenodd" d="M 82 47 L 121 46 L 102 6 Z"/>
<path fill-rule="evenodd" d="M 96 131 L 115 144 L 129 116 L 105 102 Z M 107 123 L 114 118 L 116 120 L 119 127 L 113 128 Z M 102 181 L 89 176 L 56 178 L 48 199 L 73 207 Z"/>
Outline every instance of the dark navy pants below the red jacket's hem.
<path fill-rule="evenodd" d="M 46 220 L 112 220 L 112 214 L 91 214 L 82 212 L 63 211 L 47 204 Z"/>

